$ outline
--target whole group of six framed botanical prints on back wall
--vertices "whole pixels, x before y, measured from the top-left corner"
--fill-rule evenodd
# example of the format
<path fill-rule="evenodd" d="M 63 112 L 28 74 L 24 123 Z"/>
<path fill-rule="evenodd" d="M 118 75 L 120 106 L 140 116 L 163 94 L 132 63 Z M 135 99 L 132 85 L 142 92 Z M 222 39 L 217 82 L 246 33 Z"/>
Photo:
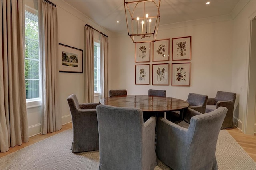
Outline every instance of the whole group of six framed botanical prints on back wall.
<path fill-rule="evenodd" d="M 136 43 L 136 85 L 190 86 L 191 36 L 172 38 L 171 46 L 170 38 Z"/>

